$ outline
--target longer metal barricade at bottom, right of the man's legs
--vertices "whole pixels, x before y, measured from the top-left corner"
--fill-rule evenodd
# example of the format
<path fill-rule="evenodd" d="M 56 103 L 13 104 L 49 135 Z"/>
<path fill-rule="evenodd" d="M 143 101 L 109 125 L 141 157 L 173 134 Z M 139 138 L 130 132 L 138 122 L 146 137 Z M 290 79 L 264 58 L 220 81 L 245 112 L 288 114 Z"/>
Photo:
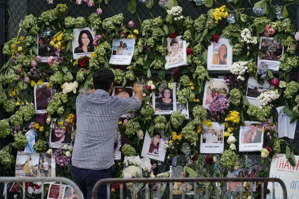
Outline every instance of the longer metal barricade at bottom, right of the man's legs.
<path fill-rule="evenodd" d="M 275 190 L 274 190 L 274 182 L 277 182 L 281 185 L 282 187 L 282 193 L 283 193 L 283 199 L 287 199 L 287 189 L 286 189 L 286 185 L 283 183 L 283 181 L 279 178 L 106 178 L 106 179 L 102 179 L 100 181 L 98 181 L 95 186 L 93 187 L 93 192 L 92 192 L 92 199 L 97 199 L 97 191 L 98 188 L 101 185 L 107 184 L 107 198 L 110 199 L 110 192 L 111 192 L 111 188 L 110 185 L 113 183 L 120 183 L 120 199 L 123 199 L 123 183 L 133 183 L 133 187 L 134 187 L 134 191 L 132 194 L 132 198 L 135 199 L 136 198 L 136 193 L 135 193 L 135 183 L 145 183 L 145 199 L 149 199 L 149 183 L 158 183 L 158 198 L 161 198 L 161 196 L 159 195 L 160 193 L 160 189 L 161 189 L 161 183 L 169 183 L 169 188 L 170 188 L 170 199 L 173 198 L 173 192 L 172 192 L 172 183 L 174 182 L 189 182 L 189 183 L 193 183 L 193 190 L 197 190 L 197 183 L 205 183 L 205 199 L 208 199 L 208 183 L 216 183 L 217 186 L 217 195 L 216 195 L 216 199 L 220 199 L 220 182 L 225 183 L 227 182 L 227 188 L 228 190 L 230 189 L 230 183 L 231 182 L 250 182 L 250 186 L 253 187 L 253 183 L 254 182 L 261 182 L 261 199 L 264 199 L 264 183 L 273 183 L 273 187 L 272 187 L 272 195 L 273 198 L 275 198 Z M 184 199 L 185 198 L 185 193 L 184 193 L 184 186 L 183 187 L 183 191 L 181 194 L 181 198 Z M 242 186 L 240 186 L 240 198 L 243 198 L 243 192 L 242 192 Z M 196 194 L 194 194 L 194 199 L 198 198 L 197 195 L 197 191 L 195 192 Z M 229 193 L 231 194 L 231 192 L 229 191 Z M 253 199 L 253 190 L 251 189 L 250 191 L 250 196 Z M 229 197 L 230 198 L 230 195 Z"/>

